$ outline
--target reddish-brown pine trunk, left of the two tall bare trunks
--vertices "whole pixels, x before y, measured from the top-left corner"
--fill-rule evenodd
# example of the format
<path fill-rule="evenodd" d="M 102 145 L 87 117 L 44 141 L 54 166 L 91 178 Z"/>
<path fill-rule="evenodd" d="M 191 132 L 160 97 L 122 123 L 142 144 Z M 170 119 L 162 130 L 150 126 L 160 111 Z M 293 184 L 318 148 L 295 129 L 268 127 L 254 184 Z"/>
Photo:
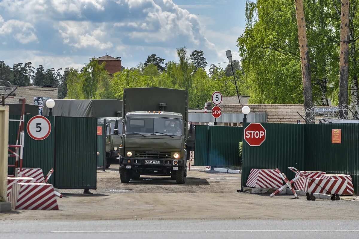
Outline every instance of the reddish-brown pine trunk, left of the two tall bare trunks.
<path fill-rule="evenodd" d="M 304 17 L 303 0 L 295 0 L 295 12 L 297 15 L 300 62 L 302 64 L 304 108 L 311 109 L 313 107 L 312 80 L 309 65 L 306 19 Z M 310 115 L 310 112 L 307 112 L 306 118 L 312 119 L 313 116 Z M 308 120 L 308 123 L 313 124 L 314 121 Z"/>

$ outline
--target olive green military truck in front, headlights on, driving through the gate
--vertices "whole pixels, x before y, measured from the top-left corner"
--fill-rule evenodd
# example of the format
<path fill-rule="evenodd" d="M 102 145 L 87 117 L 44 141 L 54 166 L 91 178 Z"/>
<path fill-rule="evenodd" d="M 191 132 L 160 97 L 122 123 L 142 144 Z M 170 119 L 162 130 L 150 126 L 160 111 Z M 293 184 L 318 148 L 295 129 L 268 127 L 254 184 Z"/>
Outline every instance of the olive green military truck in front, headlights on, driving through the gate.
<path fill-rule="evenodd" d="M 156 175 L 171 176 L 177 183 L 185 183 L 186 142 L 193 127 L 190 124 L 187 128 L 188 91 L 160 87 L 124 89 L 122 108 L 125 117 L 121 182 Z"/>

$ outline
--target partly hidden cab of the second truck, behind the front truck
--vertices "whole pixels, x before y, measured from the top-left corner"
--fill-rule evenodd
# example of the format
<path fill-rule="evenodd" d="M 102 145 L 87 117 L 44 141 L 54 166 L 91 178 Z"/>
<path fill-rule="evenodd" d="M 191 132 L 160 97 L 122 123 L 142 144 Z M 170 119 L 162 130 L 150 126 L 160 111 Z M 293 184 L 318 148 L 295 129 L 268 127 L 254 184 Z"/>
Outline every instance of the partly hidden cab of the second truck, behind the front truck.
<path fill-rule="evenodd" d="M 118 134 L 114 134 L 116 120 Z M 120 145 L 122 143 L 122 118 L 104 117 L 97 120 L 98 123 L 106 122 L 106 168 L 111 164 L 120 163 Z"/>

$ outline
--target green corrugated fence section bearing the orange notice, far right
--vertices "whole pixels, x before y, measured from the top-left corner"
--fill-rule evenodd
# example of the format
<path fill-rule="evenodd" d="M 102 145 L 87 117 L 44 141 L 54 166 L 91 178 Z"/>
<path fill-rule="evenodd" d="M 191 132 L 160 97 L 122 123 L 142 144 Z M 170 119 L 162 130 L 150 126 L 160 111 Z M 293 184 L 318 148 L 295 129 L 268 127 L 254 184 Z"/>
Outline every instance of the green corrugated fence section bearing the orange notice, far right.
<path fill-rule="evenodd" d="M 341 144 L 332 144 L 332 129 L 341 129 Z M 359 193 L 359 125 L 306 125 L 304 170 L 347 174 Z"/>

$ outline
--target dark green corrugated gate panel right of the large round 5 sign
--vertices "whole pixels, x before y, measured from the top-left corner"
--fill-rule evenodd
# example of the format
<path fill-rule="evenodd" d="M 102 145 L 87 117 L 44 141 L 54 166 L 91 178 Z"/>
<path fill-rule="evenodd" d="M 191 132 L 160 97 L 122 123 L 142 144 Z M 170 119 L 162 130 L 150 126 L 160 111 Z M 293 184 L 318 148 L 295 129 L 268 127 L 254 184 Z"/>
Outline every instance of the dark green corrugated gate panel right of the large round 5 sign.
<path fill-rule="evenodd" d="M 56 116 L 55 187 L 96 189 L 97 118 Z"/>

